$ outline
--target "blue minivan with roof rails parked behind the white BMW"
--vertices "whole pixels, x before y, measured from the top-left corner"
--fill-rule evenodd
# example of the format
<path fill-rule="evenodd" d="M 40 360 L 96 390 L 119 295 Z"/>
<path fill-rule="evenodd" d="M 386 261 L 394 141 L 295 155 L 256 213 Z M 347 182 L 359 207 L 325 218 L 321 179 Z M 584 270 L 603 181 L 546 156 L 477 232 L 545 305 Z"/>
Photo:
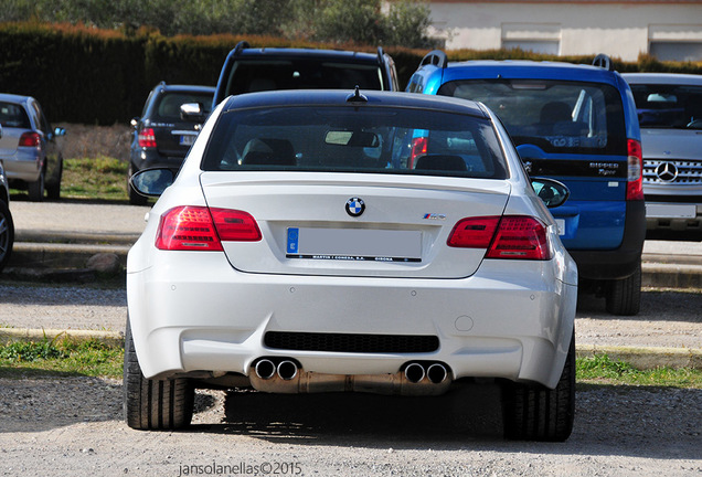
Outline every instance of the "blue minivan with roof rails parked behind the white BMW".
<path fill-rule="evenodd" d="M 641 137 L 631 91 L 607 56 L 594 65 L 449 63 L 433 51 L 407 91 L 479 100 L 492 109 L 529 173 L 571 190 L 551 213 L 577 263 L 581 292 L 604 295 L 614 315 L 638 314 L 646 237 Z M 448 146 L 415 137 L 412 155 Z"/>

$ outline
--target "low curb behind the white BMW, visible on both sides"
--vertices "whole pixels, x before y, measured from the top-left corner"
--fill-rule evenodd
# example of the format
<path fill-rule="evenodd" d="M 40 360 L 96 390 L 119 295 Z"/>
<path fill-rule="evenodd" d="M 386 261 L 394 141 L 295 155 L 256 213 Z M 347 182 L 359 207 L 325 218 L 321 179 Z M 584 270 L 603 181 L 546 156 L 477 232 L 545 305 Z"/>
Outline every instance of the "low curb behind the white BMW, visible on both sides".
<path fill-rule="evenodd" d="M 123 331 L 0 328 L 0 343 L 2 344 L 13 341 L 62 339 L 62 336 L 75 341 L 95 339 L 116 348 L 124 348 L 125 343 L 125 333 Z M 628 362 L 638 370 L 659 367 L 702 369 L 702 349 L 578 344 L 575 353 L 578 358 L 607 354 L 614 360 Z"/>

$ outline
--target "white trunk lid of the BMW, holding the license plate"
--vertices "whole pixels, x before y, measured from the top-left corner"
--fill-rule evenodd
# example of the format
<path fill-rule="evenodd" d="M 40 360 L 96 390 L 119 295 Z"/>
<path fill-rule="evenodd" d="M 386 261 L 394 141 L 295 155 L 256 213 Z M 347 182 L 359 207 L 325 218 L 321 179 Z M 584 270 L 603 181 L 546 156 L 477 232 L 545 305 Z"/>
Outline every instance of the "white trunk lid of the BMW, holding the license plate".
<path fill-rule="evenodd" d="M 500 180 L 391 174 L 204 172 L 201 183 L 210 208 L 245 211 L 263 234 L 223 243 L 234 268 L 296 275 L 470 276 L 486 250 L 446 241 L 460 219 L 501 215 L 510 193 Z"/>

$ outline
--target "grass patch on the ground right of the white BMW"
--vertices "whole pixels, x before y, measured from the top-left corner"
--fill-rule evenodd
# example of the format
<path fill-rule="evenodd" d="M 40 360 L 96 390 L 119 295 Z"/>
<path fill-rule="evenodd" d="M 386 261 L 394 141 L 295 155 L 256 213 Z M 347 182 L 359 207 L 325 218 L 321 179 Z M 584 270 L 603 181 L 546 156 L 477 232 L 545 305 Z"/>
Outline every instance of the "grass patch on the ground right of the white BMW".
<path fill-rule="evenodd" d="M 607 354 L 578 358 L 576 373 L 577 382 L 589 384 L 702 388 L 702 370 L 667 367 L 637 370 L 631 364 L 613 360 Z"/>

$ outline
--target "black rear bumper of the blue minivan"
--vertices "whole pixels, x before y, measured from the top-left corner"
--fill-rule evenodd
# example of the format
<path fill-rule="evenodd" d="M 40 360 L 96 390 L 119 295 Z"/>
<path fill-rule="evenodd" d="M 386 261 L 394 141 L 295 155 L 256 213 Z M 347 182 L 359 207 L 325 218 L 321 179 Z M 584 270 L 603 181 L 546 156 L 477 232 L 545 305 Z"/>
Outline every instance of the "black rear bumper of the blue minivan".
<path fill-rule="evenodd" d="M 646 240 L 644 201 L 627 202 L 621 245 L 607 251 L 568 251 L 577 264 L 581 278 L 621 279 L 631 276 L 641 263 Z"/>

